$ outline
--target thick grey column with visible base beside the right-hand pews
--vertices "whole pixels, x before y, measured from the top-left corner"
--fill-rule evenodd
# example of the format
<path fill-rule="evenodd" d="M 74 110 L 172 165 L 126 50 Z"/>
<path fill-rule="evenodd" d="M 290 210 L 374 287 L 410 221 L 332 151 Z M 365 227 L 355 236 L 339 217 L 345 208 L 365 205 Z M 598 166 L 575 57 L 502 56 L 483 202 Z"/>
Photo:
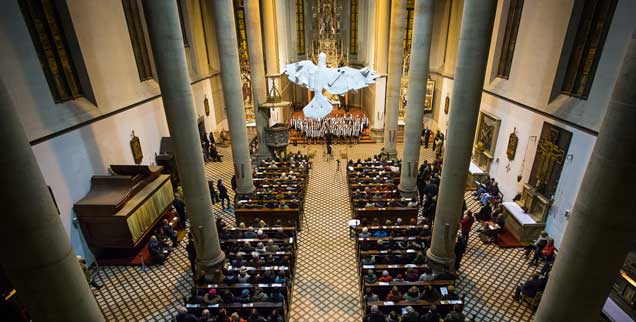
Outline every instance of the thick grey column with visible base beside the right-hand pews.
<path fill-rule="evenodd" d="M 466 176 L 472 153 L 497 0 L 464 2 L 455 82 L 437 198 L 433 240 L 427 255 L 448 265 L 462 216 Z"/>

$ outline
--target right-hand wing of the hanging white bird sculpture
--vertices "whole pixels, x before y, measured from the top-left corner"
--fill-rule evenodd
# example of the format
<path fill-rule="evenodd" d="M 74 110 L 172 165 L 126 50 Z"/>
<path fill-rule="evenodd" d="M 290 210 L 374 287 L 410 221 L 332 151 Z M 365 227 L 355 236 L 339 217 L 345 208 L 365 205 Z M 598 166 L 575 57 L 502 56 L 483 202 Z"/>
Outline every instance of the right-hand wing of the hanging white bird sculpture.
<path fill-rule="evenodd" d="M 327 90 L 331 94 L 344 94 L 375 83 L 378 75 L 369 67 L 355 69 L 351 67 L 328 68 Z"/>

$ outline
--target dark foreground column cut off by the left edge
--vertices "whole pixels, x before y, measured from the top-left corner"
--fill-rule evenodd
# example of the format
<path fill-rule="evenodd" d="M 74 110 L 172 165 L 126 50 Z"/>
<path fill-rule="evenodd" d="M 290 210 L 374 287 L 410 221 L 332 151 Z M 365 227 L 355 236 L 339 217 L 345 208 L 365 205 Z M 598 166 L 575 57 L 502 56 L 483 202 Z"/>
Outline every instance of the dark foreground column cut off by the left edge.
<path fill-rule="evenodd" d="M 34 321 L 104 321 L 31 145 L 0 84 L 2 267 Z"/>

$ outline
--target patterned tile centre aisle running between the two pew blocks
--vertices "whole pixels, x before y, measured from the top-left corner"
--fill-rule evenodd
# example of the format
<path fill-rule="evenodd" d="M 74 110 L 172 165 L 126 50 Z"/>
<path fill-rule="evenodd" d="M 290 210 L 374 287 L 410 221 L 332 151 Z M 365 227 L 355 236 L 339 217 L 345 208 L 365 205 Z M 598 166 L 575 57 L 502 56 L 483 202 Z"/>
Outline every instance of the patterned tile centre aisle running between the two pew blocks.
<path fill-rule="evenodd" d="M 309 174 L 305 221 L 298 234 L 290 321 L 359 322 L 360 286 L 351 219 L 346 161 L 326 161 L 320 146 Z M 339 156 L 337 148 L 334 155 Z"/>

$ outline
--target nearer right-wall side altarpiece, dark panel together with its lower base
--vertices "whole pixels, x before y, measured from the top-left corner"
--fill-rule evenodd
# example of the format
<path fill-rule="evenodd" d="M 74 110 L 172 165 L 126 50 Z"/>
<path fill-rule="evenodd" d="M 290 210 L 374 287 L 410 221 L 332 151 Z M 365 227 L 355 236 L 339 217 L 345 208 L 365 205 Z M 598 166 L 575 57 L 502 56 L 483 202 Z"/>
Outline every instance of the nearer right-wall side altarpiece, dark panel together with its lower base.
<path fill-rule="evenodd" d="M 520 203 L 538 222 L 545 222 L 561 178 L 572 132 L 543 123 L 530 180 L 524 184 Z"/>

